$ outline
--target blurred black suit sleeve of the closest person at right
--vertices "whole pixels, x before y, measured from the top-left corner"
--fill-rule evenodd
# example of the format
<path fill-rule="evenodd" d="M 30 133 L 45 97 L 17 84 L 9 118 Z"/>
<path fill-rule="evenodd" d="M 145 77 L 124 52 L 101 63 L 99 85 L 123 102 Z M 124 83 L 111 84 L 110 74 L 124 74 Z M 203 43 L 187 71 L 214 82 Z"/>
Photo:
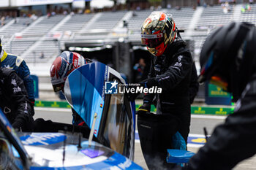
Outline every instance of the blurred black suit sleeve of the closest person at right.
<path fill-rule="evenodd" d="M 247 84 L 236 109 L 218 125 L 205 146 L 189 161 L 189 170 L 229 170 L 256 153 L 256 74 Z M 181 168 L 176 168 L 181 169 Z"/>

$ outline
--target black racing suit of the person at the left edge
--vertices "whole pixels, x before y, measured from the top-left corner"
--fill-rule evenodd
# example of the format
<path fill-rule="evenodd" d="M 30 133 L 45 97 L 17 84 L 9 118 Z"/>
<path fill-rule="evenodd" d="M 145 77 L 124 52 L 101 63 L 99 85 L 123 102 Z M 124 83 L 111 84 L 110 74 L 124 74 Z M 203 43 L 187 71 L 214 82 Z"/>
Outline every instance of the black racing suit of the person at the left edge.
<path fill-rule="evenodd" d="M 33 117 L 23 80 L 15 71 L 0 67 L 0 107 L 13 128 L 33 131 Z"/>

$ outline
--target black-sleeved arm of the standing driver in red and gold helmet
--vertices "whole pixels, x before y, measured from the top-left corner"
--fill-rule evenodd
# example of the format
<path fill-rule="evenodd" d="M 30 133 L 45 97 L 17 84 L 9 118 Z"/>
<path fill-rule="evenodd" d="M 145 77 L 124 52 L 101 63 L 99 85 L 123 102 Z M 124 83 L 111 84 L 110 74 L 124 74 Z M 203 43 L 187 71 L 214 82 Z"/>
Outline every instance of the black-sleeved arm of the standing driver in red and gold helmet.
<path fill-rule="evenodd" d="M 157 86 L 162 90 L 173 89 L 184 77 L 191 72 L 192 57 L 190 55 L 178 55 L 164 74 L 149 78 L 146 85 L 148 88 Z"/>

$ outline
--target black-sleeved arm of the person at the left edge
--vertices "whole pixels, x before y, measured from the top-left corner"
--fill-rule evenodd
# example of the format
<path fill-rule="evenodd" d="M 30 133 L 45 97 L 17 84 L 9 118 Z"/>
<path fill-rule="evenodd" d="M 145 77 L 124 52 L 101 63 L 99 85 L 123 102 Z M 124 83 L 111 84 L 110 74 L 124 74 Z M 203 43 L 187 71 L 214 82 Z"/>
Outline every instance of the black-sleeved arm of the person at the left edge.
<path fill-rule="evenodd" d="M 23 81 L 15 72 L 11 72 L 5 81 L 8 87 L 8 94 L 10 94 L 7 97 L 11 98 L 16 107 L 16 117 L 14 123 L 12 123 L 13 128 L 29 125 L 29 120 L 32 117 L 31 107 Z"/>

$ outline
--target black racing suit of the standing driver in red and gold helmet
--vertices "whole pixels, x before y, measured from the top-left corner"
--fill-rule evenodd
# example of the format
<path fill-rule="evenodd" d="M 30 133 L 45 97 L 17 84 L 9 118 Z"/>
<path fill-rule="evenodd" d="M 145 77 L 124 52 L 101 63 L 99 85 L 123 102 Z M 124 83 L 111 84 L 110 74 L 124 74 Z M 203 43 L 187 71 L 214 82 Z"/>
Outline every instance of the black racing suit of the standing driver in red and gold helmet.
<path fill-rule="evenodd" d="M 189 83 L 192 75 L 192 56 L 184 41 L 176 40 L 159 57 L 151 61 L 148 78 L 157 80 L 162 93 L 157 94 L 157 113 L 175 115 L 181 120 L 178 131 L 187 142 L 190 125 Z M 147 93 L 144 101 L 151 102 L 154 94 Z"/>

